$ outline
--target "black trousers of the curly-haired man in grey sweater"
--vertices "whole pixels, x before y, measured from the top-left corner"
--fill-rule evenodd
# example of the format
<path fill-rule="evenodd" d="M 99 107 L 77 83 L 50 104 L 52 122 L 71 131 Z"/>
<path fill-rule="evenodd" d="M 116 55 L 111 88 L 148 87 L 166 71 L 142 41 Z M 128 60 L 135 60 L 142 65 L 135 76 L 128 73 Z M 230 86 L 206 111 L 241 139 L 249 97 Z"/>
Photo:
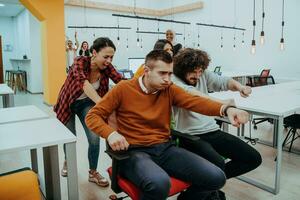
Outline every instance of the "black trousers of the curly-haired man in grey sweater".
<path fill-rule="evenodd" d="M 227 179 L 257 168 L 262 158 L 249 144 L 221 130 L 197 135 L 200 140 L 180 140 L 180 146 L 220 167 Z M 224 157 L 230 161 L 225 164 Z"/>

